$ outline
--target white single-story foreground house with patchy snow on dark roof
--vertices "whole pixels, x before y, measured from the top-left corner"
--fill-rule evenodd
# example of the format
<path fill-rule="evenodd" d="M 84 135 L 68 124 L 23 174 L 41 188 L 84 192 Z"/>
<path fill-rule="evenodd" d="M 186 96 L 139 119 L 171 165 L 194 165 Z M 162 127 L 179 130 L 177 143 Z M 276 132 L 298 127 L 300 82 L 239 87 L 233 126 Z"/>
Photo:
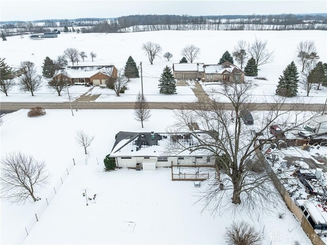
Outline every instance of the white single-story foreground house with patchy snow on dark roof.
<path fill-rule="evenodd" d="M 211 137 L 198 132 L 201 137 Z M 120 131 L 110 153 L 117 167 L 154 170 L 155 167 L 171 166 L 214 166 L 215 157 L 211 151 L 196 149 L 181 152 L 169 150 L 174 143 L 196 146 L 197 139 L 192 133 L 156 133 Z"/>

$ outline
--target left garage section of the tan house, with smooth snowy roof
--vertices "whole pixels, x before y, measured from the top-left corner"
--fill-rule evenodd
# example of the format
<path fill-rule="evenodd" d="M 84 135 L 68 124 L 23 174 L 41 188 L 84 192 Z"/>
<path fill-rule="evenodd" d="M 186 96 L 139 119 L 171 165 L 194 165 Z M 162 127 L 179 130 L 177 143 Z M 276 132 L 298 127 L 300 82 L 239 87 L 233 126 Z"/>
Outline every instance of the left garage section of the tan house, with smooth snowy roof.
<path fill-rule="evenodd" d="M 204 63 L 174 63 L 173 74 L 177 80 L 192 80 L 202 78 Z"/>

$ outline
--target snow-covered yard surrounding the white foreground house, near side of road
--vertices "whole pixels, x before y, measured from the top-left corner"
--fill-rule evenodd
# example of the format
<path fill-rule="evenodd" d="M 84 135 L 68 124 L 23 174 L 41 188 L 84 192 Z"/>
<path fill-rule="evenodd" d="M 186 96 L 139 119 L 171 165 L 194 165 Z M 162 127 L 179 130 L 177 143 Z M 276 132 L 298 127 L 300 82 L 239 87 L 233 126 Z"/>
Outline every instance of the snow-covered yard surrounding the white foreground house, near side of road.
<path fill-rule="evenodd" d="M 69 110 L 46 110 L 39 118 L 29 118 L 27 112 L 4 116 L 1 155 L 19 149 L 44 160 L 52 179 L 38 193 L 40 201 L 19 206 L 1 200 L 2 244 L 24 241 L 25 228 L 24 244 L 225 244 L 225 227 L 239 219 L 263 231 L 264 244 L 310 244 L 285 205 L 267 207 L 267 214 L 253 210 L 213 217 L 196 203 L 206 181 L 199 188 L 193 182 L 172 182 L 170 168 L 103 171 L 116 132 L 164 132 L 175 121 L 172 110 L 152 110 L 144 129 L 133 119 L 133 110 L 78 110 L 74 117 Z M 75 143 L 80 128 L 95 136 L 86 156 Z M 88 206 L 84 190 L 88 197 L 97 194 Z M 278 213 L 285 213 L 284 219 Z"/>

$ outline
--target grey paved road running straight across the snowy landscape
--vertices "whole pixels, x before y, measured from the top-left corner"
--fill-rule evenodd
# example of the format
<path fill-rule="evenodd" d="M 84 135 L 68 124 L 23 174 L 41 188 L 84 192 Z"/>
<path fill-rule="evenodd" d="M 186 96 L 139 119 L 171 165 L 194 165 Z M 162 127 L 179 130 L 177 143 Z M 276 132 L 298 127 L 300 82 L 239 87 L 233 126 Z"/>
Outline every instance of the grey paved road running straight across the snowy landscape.
<path fill-rule="evenodd" d="M 231 108 L 231 103 L 220 103 L 226 109 Z M 197 108 L 197 103 L 191 102 L 149 102 L 150 109 L 181 109 L 186 105 Z M 68 102 L 56 103 L 21 103 L 21 102 L 1 102 L 1 111 L 14 111 L 18 109 L 30 109 L 35 106 L 41 106 L 44 109 L 70 109 Z M 258 103 L 255 104 L 254 110 L 270 109 L 272 104 Z M 73 109 L 133 109 L 134 102 L 72 102 Z M 283 104 L 284 110 L 312 110 L 322 111 L 323 104 Z"/>

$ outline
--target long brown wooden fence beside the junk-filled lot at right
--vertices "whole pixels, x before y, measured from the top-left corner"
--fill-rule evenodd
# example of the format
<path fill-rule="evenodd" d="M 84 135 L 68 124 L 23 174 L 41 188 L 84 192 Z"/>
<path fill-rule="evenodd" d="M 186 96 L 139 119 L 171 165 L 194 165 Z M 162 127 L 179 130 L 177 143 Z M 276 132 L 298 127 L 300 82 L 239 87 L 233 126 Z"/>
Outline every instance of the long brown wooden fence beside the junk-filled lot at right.
<path fill-rule="evenodd" d="M 321 240 L 318 234 L 314 231 L 312 226 L 310 225 L 309 221 L 306 219 L 305 215 L 302 211 L 296 206 L 293 202 L 292 198 L 288 194 L 287 190 L 285 189 L 282 182 L 278 179 L 277 175 L 271 169 L 270 164 L 268 163 L 267 159 L 264 157 L 262 152 L 259 149 L 256 149 L 256 155 L 260 159 L 261 163 L 263 164 L 264 168 L 266 169 L 267 173 L 270 175 L 270 179 L 274 184 L 275 188 L 282 196 L 284 202 L 286 203 L 287 207 L 290 211 L 294 214 L 294 216 L 298 219 L 301 224 L 303 231 L 306 233 L 308 238 L 311 240 L 313 245 L 325 245 L 325 243 Z"/>

